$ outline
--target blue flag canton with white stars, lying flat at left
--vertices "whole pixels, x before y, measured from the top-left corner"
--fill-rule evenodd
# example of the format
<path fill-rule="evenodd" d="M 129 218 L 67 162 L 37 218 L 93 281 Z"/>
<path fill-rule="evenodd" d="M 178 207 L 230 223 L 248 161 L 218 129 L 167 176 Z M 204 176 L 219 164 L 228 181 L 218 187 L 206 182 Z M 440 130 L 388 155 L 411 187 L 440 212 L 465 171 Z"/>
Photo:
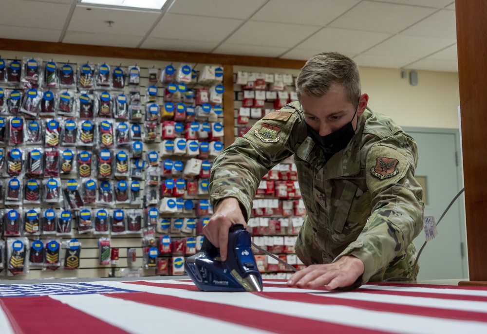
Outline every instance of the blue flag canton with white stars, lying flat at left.
<path fill-rule="evenodd" d="M 37 297 L 47 295 L 108 294 L 113 292 L 136 292 L 88 283 L 57 284 L 0 284 L 0 297 Z"/>

